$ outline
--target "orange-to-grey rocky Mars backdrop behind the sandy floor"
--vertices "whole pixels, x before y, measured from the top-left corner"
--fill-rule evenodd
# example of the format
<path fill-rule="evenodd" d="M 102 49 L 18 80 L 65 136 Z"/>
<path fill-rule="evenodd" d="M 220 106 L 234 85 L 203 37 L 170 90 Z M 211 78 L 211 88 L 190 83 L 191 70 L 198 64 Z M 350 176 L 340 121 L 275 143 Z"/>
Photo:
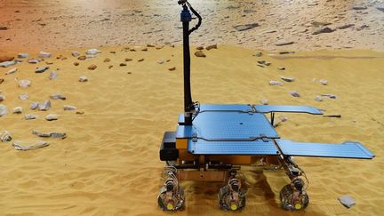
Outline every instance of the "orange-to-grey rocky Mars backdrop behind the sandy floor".
<path fill-rule="evenodd" d="M 268 51 L 384 50 L 384 1 L 190 0 L 204 18 L 196 45 Z M 181 44 L 176 0 L 0 0 L 1 51 Z"/>

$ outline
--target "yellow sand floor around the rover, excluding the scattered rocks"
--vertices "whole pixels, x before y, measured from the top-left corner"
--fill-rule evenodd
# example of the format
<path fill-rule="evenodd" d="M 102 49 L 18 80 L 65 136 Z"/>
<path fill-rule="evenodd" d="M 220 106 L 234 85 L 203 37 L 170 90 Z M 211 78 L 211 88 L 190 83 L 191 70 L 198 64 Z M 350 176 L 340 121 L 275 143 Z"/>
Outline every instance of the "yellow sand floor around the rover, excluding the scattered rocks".
<path fill-rule="evenodd" d="M 12 141 L 50 143 L 30 151 L 18 151 L 12 142 L 1 143 L 1 215 L 168 215 L 156 204 L 164 166 L 157 158 L 163 132 L 175 129 L 182 110 L 181 47 L 148 48 L 147 52 L 139 48 L 130 52 L 124 47 L 100 50 L 96 58 L 87 60 L 76 60 L 70 51 L 53 52 L 52 58 L 37 65 L 20 63 L 16 73 L 6 76 L 12 67 L 0 68 L 0 78 L 4 78 L 0 90 L 5 96 L 1 104 L 9 111 L 0 117 L 1 130 L 11 132 Z M 291 140 L 356 140 L 376 155 L 373 160 L 297 157 L 307 172 L 311 199 L 308 209 L 299 213 L 278 206 L 279 190 L 288 183 L 283 171 L 244 168 L 251 188 L 242 215 L 380 215 L 384 211 L 383 52 L 264 52 L 254 57 L 252 50 L 228 46 L 204 52 L 206 58 L 192 57 L 194 100 L 259 104 L 267 99 L 270 104 L 323 108 L 326 114 L 342 117 L 282 114 L 277 117 L 289 120 L 276 130 Z M 30 58 L 36 57 L 36 53 L 30 54 Z M 57 60 L 60 55 L 68 59 Z M 103 62 L 105 58 L 111 61 Z M 132 61 L 120 67 L 125 58 Z M 170 61 L 158 64 L 159 60 Z M 271 65 L 260 68 L 257 60 L 268 60 Z M 80 65 L 74 66 L 75 61 Z M 50 69 L 36 74 L 36 67 L 46 63 L 52 63 Z M 87 69 L 92 64 L 97 68 Z M 168 70 L 172 67 L 176 70 Z M 55 80 L 48 78 L 52 70 L 58 72 Z M 89 81 L 78 82 L 82 75 Z M 296 80 L 285 83 L 280 76 Z M 15 78 L 32 84 L 22 89 Z M 326 79 L 328 85 L 314 83 L 314 78 Z M 284 86 L 270 86 L 270 80 L 280 80 Z M 292 97 L 290 91 L 300 92 L 301 97 Z M 51 100 L 49 111 L 29 109 L 32 101 L 47 100 L 58 92 L 67 100 Z M 29 99 L 20 100 L 21 93 L 28 93 Z M 314 100 L 324 93 L 338 99 Z M 65 104 L 84 114 L 63 111 Z M 12 114 L 12 108 L 18 106 L 24 108 L 23 114 Z M 26 114 L 38 117 L 25 120 Z M 44 120 L 47 114 L 57 114 L 59 119 L 48 122 Z M 67 132 L 68 138 L 38 138 L 32 130 Z M 178 215 L 233 215 L 217 208 L 219 183 L 183 182 L 182 186 L 187 209 Z M 342 195 L 353 196 L 356 206 L 343 207 L 337 200 Z"/>

